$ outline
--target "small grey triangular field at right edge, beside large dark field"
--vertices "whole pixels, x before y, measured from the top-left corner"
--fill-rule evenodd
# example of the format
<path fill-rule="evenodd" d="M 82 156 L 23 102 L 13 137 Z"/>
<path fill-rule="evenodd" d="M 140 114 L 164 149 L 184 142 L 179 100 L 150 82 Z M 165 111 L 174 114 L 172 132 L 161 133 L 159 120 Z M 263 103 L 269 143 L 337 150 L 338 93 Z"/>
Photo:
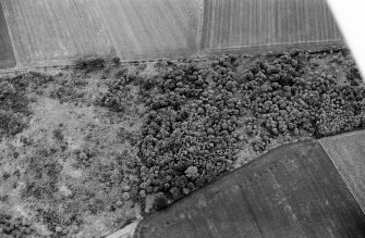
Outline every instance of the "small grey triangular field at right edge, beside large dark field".
<path fill-rule="evenodd" d="M 320 142 L 365 212 L 365 131 L 328 137 Z"/>

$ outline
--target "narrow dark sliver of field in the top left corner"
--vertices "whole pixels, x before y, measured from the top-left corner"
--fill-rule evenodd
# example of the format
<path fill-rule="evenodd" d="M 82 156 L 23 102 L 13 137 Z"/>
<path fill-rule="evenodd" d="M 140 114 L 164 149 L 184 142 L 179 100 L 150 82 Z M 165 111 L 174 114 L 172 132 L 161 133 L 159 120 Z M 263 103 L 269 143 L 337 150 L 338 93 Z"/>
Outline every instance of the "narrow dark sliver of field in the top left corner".
<path fill-rule="evenodd" d="M 15 64 L 13 47 L 0 2 L 0 68 L 13 67 Z"/>

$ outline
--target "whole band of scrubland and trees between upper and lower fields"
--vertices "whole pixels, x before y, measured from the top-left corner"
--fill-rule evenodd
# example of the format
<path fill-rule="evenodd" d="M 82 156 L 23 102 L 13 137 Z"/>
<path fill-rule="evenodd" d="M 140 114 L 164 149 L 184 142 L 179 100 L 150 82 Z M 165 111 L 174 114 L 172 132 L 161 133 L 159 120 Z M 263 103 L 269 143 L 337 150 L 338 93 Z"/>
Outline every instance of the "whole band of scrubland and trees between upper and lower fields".
<path fill-rule="evenodd" d="M 364 127 L 365 90 L 345 49 L 95 60 L 3 73 L 0 84 L 0 234 L 10 237 L 102 237 L 269 149 Z"/>

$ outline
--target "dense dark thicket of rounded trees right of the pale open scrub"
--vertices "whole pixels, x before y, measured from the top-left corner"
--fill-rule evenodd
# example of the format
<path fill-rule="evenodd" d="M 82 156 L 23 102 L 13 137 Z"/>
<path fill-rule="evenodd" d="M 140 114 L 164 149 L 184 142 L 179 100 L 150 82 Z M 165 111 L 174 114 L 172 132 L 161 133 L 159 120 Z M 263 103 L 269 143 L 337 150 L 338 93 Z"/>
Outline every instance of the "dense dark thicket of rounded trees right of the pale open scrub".
<path fill-rule="evenodd" d="M 261 153 L 278 141 L 364 128 L 358 74 L 350 70 L 346 79 L 355 79 L 340 83 L 329 71 L 307 73 L 317 57 L 293 51 L 245 68 L 236 55 L 204 66 L 172 63 L 155 87 L 144 87 L 153 92 L 139 142 L 142 193 L 183 197 L 232 170 L 245 145 Z"/>

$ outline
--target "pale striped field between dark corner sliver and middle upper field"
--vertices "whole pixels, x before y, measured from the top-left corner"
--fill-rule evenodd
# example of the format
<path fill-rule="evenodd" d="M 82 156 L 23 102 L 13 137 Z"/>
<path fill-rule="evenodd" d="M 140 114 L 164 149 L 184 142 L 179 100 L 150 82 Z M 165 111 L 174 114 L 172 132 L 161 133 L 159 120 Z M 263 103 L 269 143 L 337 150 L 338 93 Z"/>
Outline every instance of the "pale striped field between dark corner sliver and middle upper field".
<path fill-rule="evenodd" d="M 1 2 L 20 66 L 62 64 L 112 51 L 95 0 Z"/>

